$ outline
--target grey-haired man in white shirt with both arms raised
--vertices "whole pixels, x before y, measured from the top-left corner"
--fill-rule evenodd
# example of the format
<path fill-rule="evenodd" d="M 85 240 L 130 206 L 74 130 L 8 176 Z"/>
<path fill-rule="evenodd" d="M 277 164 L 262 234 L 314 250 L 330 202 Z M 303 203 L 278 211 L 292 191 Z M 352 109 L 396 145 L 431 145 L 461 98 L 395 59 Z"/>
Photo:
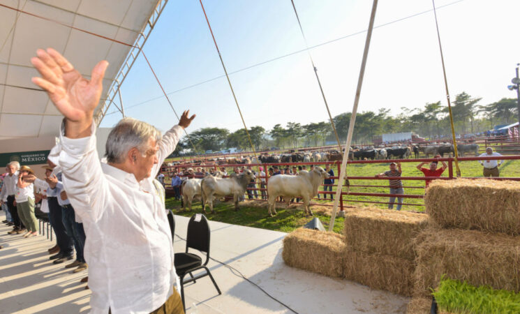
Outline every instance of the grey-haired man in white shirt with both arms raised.
<path fill-rule="evenodd" d="M 42 77 L 33 82 L 65 116 L 49 158 L 61 166 L 64 188 L 87 234 L 91 313 L 184 313 L 174 289 L 179 278 L 170 225 L 152 180 L 195 115 L 184 112 L 165 135 L 122 119 L 107 138 L 107 163 L 101 163 L 93 117 L 107 61 L 94 67 L 89 81 L 56 50 L 36 53 L 31 62 Z"/>

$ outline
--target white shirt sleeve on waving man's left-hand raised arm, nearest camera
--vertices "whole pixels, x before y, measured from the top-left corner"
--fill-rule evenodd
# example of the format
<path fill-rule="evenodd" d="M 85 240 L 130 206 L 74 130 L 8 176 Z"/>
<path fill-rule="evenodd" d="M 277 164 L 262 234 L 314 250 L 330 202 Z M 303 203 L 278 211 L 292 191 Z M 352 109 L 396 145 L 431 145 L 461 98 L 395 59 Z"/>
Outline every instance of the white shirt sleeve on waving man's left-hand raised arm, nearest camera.
<path fill-rule="evenodd" d="M 105 208 L 108 186 L 98 158 L 94 123 L 91 128 L 91 136 L 77 139 L 65 137 L 61 132 L 60 142 L 53 151 L 59 153 L 61 181 L 75 212 L 83 220 L 97 221 Z"/>

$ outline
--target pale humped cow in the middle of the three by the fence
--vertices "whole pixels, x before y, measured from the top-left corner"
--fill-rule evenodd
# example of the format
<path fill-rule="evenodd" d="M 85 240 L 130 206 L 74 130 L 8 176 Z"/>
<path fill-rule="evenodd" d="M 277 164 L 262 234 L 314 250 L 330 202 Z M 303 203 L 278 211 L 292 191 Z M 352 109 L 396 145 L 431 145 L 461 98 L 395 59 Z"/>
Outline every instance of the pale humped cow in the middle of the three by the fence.
<path fill-rule="evenodd" d="M 200 192 L 202 195 L 202 211 L 206 214 L 206 203 L 209 203 L 209 209 L 211 213 L 213 210 L 214 197 L 224 197 L 233 195 L 233 201 L 235 202 L 235 211 L 238 211 L 238 200 L 239 197 L 244 195 L 247 185 L 251 180 L 255 180 L 256 176 L 251 170 L 244 170 L 239 175 L 234 175 L 229 178 L 216 178 L 212 176 L 206 176 L 200 182 Z M 270 183 L 271 180 L 269 180 Z"/>

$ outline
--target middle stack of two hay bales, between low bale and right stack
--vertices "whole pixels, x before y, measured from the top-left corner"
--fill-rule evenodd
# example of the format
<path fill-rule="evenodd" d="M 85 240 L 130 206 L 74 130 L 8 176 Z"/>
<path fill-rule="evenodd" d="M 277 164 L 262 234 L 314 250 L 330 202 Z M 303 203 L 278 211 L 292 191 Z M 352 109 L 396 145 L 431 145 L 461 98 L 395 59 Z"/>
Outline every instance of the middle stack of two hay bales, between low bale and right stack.
<path fill-rule="evenodd" d="M 344 277 L 405 296 L 413 292 L 413 239 L 426 229 L 424 214 L 362 207 L 345 218 Z"/>

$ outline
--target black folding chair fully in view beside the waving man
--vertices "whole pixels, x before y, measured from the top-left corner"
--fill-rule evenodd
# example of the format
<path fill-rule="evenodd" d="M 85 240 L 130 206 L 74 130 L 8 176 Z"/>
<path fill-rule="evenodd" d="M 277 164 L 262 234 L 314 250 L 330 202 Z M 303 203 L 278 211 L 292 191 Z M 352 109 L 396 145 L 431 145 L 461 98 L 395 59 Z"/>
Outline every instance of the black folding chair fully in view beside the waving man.
<path fill-rule="evenodd" d="M 200 215 L 200 221 L 195 221 L 195 218 Z M 209 236 L 211 232 L 209 230 L 209 225 L 207 223 L 206 216 L 202 214 L 195 214 L 191 216 L 190 221 L 188 222 L 188 234 L 186 236 L 186 253 L 176 253 L 175 254 L 175 270 L 177 271 L 177 275 L 181 278 L 181 297 L 182 297 L 182 306 L 184 306 L 184 311 L 186 311 L 186 304 L 184 303 L 184 284 L 185 283 L 196 283 L 195 280 L 209 276 L 211 281 L 216 287 L 218 294 L 222 294 L 221 290 L 216 285 L 215 279 L 211 276 L 211 272 L 206 267 L 209 262 Z M 200 251 L 201 253 L 206 253 L 206 261 L 202 264 L 202 257 L 199 255 L 188 253 L 188 248 L 194 248 L 195 250 Z M 205 274 L 200 274 L 198 276 L 193 277 L 192 272 L 198 269 L 205 269 Z M 186 274 L 190 274 L 191 278 L 184 281 L 184 276 Z"/>

